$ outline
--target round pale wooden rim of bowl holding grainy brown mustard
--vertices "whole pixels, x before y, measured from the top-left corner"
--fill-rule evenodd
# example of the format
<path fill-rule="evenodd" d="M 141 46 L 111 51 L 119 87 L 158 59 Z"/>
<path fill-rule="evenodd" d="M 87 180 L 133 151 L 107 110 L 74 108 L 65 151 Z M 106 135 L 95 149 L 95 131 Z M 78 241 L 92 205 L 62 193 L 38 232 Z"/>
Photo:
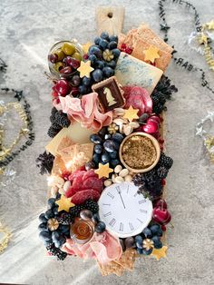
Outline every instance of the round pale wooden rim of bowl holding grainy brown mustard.
<path fill-rule="evenodd" d="M 149 139 L 151 139 L 151 143 L 154 145 L 155 150 L 156 150 L 156 160 L 151 164 L 151 166 L 149 166 L 147 168 L 143 168 L 143 169 L 134 169 L 134 168 L 131 168 L 129 165 L 127 165 L 126 162 L 124 162 L 124 160 L 122 158 L 122 147 L 123 147 L 124 143 L 126 141 L 128 141 L 131 138 L 131 136 L 133 136 L 133 135 L 137 135 L 137 136 L 141 135 L 141 136 L 148 137 Z M 151 171 L 152 168 L 155 167 L 155 165 L 160 160 L 160 145 L 159 145 L 159 142 L 149 133 L 142 133 L 142 132 L 131 133 L 122 141 L 122 144 L 120 146 L 119 156 L 120 156 L 120 160 L 121 160 L 122 164 L 131 172 L 135 172 L 135 173 L 149 172 L 149 171 Z"/>

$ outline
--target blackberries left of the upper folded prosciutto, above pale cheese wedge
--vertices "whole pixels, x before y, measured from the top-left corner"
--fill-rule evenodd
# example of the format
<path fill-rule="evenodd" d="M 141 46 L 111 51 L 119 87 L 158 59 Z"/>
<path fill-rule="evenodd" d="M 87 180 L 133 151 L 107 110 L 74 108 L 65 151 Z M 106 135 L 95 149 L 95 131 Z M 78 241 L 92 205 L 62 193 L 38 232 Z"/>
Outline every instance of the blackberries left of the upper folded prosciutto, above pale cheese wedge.
<path fill-rule="evenodd" d="M 71 123 L 66 113 L 63 113 L 62 111 L 57 111 L 54 107 L 52 109 L 50 121 L 52 125 L 50 126 L 47 133 L 51 138 L 53 138 L 63 128 L 69 127 Z"/>

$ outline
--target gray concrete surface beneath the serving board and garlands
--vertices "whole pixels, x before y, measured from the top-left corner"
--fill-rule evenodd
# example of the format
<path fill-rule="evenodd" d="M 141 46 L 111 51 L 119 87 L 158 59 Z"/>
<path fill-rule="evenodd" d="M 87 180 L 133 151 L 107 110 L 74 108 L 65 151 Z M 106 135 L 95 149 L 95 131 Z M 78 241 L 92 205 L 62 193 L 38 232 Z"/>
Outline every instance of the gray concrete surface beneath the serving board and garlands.
<path fill-rule="evenodd" d="M 213 17 L 211 0 L 192 1 L 202 22 Z M 12 166 L 17 175 L 7 188 L 1 187 L 0 218 L 13 231 L 13 241 L 0 255 L 0 282 L 68 284 L 214 284 L 214 192 L 213 165 L 204 159 L 202 142 L 195 136 L 195 124 L 213 110 L 213 95 L 201 88 L 198 74 L 181 72 L 172 63 L 167 71 L 179 88 L 168 103 L 167 153 L 174 159 L 168 178 L 169 208 L 174 229 L 169 227 L 168 257 L 159 262 L 137 260 L 135 270 L 121 278 L 102 278 L 93 261 L 67 258 L 63 262 L 45 256 L 38 240 L 37 216 L 46 203 L 45 177 L 38 174 L 34 160 L 49 141 L 46 131 L 51 111 L 51 85 L 44 77 L 50 46 L 76 37 L 81 43 L 96 34 L 96 5 L 124 5 L 124 31 L 145 21 L 159 32 L 157 1 L 68 1 L 1 0 L 0 56 L 8 64 L 3 85 L 24 89 L 32 106 L 36 139 L 34 145 Z M 170 5 L 168 16 L 170 43 L 180 54 L 208 71 L 204 59 L 185 44 L 193 29 L 193 17 L 187 10 Z M 212 84 L 214 74 L 209 72 Z M 214 84 L 212 84 L 214 86 Z M 212 97 L 212 99 L 211 99 Z"/>

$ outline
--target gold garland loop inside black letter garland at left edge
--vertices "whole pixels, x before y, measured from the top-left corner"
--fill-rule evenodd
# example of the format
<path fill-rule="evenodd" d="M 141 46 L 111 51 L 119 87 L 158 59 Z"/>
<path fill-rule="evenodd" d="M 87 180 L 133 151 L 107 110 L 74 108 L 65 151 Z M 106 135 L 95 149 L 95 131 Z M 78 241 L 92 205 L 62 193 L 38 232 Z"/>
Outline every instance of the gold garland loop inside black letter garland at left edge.
<path fill-rule="evenodd" d="M 0 128 L 0 162 L 3 161 L 7 155 L 11 154 L 15 145 L 19 143 L 22 136 L 29 132 L 29 129 L 27 128 L 27 114 L 25 113 L 21 103 L 6 103 L 5 105 L 0 105 L 0 116 L 7 113 L 11 109 L 15 109 L 15 112 L 18 113 L 23 124 L 14 142 L 11 143 L 9 147 L 5 147 L 3 145 L 5 130 Z M 4 173 L 4 169 L 0 168 L 0 174 L 2 173 Z"/>

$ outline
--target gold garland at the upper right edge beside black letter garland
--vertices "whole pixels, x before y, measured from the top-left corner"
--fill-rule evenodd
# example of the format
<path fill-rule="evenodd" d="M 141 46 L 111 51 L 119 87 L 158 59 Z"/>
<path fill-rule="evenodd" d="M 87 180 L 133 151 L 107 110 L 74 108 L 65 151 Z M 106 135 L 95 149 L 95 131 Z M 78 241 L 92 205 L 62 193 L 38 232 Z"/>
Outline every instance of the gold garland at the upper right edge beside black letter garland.
<path fill-rule="evenodd" d="M 202 25 L 201 33 L 199 33 L 198 41 L 199 44 L 204 44 L 204 57 L 207 64 L 209 64 L 209 69 L 214 71 L 214 58 L 212 54 L 211 46 L 208 41 L 207 31 L 214 30 L 214 20 L 209 23 Z"/>

